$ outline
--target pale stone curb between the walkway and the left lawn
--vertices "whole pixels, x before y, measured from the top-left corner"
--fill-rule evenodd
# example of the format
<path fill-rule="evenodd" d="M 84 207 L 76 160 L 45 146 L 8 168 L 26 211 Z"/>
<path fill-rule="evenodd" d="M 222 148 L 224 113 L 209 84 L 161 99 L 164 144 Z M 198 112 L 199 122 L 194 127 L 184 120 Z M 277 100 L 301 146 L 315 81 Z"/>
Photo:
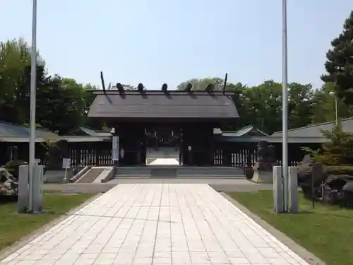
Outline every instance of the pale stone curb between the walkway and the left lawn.
<path fill-rule="evenodd" d="M 42 226 L 42 228 L 39 228 L 37 230 L 34 230 L 33 232 L 30 232 L 30 234 L 25 235 L 18 242 L 15 242 L 15 243 L 13 243 L 13 245 L 1 250 L 0 251 L 0 262 L 3 259 L 6 259 L 6 257 L 8 257 L 9 255 L 18 251 L 18 249 L 20 249 L 20 248 L 24 247 L 25 245 L 27 245 L 28 243 L 30 243 L 32 240 L 35 240 L 35 238 L 37 238 L 39 235 L 42 235 L 44 232 L 47 232 L 48 230 L 53 228 L 55 225 L 60 223 L 62 220 L 65 220 L 66 218 L 68 218 L 68 216 L 71 216 L 73 213 L 76 213 L 76 211 L 87 206 L 92 201 L 95 201 L 95 199 L 97 199 L 100 196 L 102 196 L 102 193 L 97 194 L 95 196 L 92 196 L 92 198 L 84 201 L 83 204 L 80 204 L 79 206 L 72 208 L 67 213 L 64 213 L 62 216 L 59 216 L 58 218 L 55 218 L 54 220 L 49 221 L 49 223 Z"/>

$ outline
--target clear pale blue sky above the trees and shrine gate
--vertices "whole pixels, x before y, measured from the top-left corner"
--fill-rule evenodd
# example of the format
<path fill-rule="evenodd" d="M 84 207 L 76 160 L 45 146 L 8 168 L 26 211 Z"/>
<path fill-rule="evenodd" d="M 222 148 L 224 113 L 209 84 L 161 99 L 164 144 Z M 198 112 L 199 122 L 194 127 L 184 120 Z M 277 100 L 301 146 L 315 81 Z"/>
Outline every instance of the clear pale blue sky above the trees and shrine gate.
<path fill-rule="evenodd" d="M 224 76 L 282 81 L 281 0 L 37 0 L 49 73 L 146 88 Z M 1 0 L 0 40 L 31 41 L 30 0 Z M 288 0 L 289 82 L 321 86 L 325 52 L 352 0 Z"/>

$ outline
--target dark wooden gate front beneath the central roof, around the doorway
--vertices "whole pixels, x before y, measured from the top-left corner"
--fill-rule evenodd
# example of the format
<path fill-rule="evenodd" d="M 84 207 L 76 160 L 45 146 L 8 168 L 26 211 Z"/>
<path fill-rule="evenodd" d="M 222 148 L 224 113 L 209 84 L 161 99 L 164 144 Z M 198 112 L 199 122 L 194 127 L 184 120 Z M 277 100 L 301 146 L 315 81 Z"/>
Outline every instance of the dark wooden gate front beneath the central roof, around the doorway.
<path fill-rule="evenodd" d="M 148 148 L 164 147 L 179 151 L 180 165 L 213 165 L 213 126 L 194 123 L 160 126 L 145 123 L 114 126 L 114 134 L 119 136 L 119 166 L 146 165 Z"/>

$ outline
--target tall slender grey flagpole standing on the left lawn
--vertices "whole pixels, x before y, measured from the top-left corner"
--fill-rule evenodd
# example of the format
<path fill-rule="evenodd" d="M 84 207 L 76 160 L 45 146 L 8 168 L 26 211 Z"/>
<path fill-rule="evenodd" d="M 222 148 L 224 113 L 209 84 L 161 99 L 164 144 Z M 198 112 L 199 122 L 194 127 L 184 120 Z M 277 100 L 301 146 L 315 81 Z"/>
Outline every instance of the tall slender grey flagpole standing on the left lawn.
<path fill-rule="evenodd" d="M 32 8 L 32 54 L 30 63 L 30 159 L 28 161 L 28 182 L 29 182 L 29 200 L 28 210 L 33 211 L 33 178 L 35 177 L 35 101 L 37 89 L 37 0 L 33 0 Z"/>

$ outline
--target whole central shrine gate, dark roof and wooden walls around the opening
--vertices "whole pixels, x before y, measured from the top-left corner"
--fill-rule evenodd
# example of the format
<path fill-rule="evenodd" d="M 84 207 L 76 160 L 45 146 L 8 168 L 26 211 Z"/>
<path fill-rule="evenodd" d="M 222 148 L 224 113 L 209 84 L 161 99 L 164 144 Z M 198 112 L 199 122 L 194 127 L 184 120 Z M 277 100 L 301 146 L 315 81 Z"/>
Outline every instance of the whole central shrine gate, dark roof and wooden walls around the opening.
<path fill-rule="evenodd" d="M 119 166 L 146 165 L 148 148 L 179 151 L 179 164 L 213 165 L 213 129 L 235 122 L 233 93 L 217 91 L 95 91 L 88 117 L 119 136 Z"/>

